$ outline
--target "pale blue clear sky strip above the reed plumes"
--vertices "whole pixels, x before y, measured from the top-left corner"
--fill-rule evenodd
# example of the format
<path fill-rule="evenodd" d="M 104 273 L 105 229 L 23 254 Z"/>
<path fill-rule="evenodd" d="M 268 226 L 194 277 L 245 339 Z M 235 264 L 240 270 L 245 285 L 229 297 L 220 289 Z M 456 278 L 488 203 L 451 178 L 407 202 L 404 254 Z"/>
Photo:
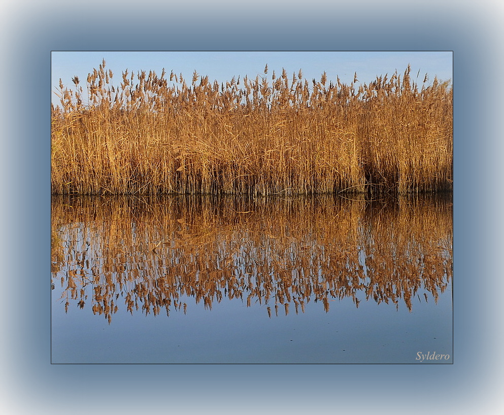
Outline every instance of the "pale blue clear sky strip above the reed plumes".
<path fill-rule="evenodd" d="M 85 82 L 88 73 L 98 68 L 102 59 L 106 69 L 114 74 L 114 84 L 121 82 L 121 73 L 126 69 L 134 71 L 150 70 L 161 74 L 164 68 L 168 74 L 192 77 L 194 70 L 199 75 L 208 75 L 209 81 L 230 81 L 231 78 L 247 75 L 255 78 L 264 75 L 264 66 L 268 65 L 268 76 L 272 71 L 277 75 L 285 68 L 289 79 L 292 74 L 303 70 L 303 76 L 311 80 L 320 80 L 322 73 L 327 73 L 328 80 L 340 77 L 343 83 L 349 84 L 354 73 L 361 83 L 369 83 L 376 76 L 389 74 L 395 70 L 403 74 L 408 64 L 411 65 L 411 76 L 414 81 L 422 83 L 425 74 L 432 81 L 434 76 L 440 80 L 453 79 L 453 54 L 451 51 L 410 51 L 410 52 L 130 52 L 130 51 L 53 51 L 51 52 L 51 90 L 58 89 L 59 78 L 66 87 L 74 87 L 72 78 L 78 76 Z M 416 79 L 417 73 L 418 80 Z M 188 83 L 189 83 L 188 82 Z M 58 103 L 55 94 L 52 102 Z"/>

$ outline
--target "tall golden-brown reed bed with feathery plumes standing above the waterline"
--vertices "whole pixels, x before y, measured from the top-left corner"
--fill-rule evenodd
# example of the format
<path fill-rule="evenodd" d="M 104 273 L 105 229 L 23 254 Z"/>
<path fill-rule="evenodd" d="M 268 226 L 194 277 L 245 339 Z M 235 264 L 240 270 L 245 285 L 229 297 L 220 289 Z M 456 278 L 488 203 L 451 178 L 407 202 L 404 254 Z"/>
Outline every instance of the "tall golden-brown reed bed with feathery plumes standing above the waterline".
<path fill-rule="evenodd" d="M 52 106 L 53 194 L 418 193 L 452 189 L 453 89 L 394 73 L 209 82 L 94 69 Z M 417 74 L 418 77 L 418 74 Z M 420 78 L 421 81 L 421 78 Z M 85 102 L 86 101 L 86 102 Z"/>

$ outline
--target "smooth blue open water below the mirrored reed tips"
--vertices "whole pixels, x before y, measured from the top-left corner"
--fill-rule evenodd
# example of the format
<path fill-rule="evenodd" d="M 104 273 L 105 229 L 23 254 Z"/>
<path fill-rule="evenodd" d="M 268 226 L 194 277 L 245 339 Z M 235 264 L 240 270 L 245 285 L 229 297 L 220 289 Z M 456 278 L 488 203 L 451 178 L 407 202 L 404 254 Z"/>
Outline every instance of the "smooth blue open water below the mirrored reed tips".
<path fill-rule="evenodd" d="M 282 309 L 268 318 L 264 305 L 222 301 L 212 311 L 190 307 L 169 318 L 117 313 L 109 325 L 75 307 L 64 314 L 53 302 L 52 361 L 420 363 L 418 352 L 452 355 L 449 296 L 435 306 L 418 302 L 411 313 L 374 301 L 361 301 L 359 308 L 348 298 L 331 303 L 327 313 L 311 302 L 304 313 L 285 315 Z"/>

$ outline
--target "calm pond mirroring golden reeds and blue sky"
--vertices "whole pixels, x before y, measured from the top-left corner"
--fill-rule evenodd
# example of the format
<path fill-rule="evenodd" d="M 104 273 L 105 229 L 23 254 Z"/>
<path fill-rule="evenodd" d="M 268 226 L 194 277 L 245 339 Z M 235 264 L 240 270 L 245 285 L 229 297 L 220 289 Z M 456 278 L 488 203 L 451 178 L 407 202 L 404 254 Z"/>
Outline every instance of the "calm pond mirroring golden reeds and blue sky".
<path fill-rule="evenodd" d="M 453 361 L 451 195 L 51 209 L 52 363 Z"/>

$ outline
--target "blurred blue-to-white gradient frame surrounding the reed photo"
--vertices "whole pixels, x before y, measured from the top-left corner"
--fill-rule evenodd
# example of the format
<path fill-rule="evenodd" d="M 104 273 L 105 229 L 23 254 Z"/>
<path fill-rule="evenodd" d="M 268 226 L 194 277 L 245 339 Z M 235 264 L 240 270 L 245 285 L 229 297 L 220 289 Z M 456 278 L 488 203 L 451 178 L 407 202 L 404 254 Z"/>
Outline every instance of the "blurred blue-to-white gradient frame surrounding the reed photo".
<path fill-rule="evenodd" d="M 2 28 L 6 413 L 498 412 L 501 7 L 23 6 L 6 8 Z M 50 51 L 216 49 L 454 51 L 453 365 L 50 364 Z"/>

